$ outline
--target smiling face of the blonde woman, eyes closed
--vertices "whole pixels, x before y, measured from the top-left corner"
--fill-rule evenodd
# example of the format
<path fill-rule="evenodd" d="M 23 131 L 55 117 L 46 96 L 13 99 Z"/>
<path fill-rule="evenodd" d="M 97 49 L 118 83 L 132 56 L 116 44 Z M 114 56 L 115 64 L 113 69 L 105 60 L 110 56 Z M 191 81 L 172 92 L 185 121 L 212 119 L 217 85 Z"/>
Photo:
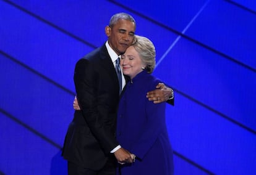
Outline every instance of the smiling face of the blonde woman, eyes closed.
<path fill-rule="evenodd" d="M 124 75 L 134 78 L 138 73 L 142 71 L 142 67 L 145 66 L 140 59 L 139 53 L 134 49 L 134 46 L 127 48 L 126 52 L 121 56 L 120 65 Z"/>

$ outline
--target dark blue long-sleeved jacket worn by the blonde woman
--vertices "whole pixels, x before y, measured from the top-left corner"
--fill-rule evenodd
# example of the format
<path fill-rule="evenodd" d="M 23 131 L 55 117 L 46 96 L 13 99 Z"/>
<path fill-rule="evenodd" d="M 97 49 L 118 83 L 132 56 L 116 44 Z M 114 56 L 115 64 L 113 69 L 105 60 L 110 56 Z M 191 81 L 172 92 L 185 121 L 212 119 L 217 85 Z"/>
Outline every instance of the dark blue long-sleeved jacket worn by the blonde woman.
<path fill-rule="evenodd" d="M 173 174 L 173 150 L 165 121 L 166 103 L 153 104 L 146 94 L 161 83 L 143 70 L 126 84 L 117 112 L 116 137 L 137 156 L 135 163 L 120 165 L 125 174 Z"/>

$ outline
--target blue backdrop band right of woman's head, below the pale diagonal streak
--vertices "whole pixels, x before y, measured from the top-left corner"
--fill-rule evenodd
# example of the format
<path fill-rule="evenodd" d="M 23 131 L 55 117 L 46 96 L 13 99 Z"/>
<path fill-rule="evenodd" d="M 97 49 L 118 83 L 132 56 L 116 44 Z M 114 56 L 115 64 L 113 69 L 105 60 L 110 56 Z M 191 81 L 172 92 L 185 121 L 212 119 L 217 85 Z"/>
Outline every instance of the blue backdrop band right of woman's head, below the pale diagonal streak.
<path fill-rule="evenodd" d="M 155 74 L 168 79 L 168 84 L 256 131 L 254 72 L 186 39 L 176 44 L 160 66 Z"/>

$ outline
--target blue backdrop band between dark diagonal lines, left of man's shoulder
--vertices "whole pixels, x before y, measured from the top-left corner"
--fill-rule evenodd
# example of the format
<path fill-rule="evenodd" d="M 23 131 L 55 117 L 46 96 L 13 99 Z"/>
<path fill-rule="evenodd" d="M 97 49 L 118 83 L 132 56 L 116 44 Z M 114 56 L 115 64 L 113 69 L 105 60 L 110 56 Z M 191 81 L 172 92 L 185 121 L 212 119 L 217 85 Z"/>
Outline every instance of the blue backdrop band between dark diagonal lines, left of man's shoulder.
<path fill-rule="evenodd" d="M 0 49 L 74 91 L 75 62 L 92 47 L 2 1 L 0 11 Z"/>

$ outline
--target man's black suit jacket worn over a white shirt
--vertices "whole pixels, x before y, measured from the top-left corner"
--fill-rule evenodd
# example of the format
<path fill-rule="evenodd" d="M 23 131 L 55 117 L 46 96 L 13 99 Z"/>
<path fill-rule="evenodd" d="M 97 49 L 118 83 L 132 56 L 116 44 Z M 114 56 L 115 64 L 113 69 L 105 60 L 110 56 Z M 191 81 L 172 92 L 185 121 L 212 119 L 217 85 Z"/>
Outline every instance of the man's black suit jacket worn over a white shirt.
<path fill-rule="evenodd" d="M 77 165 L 98 170 L 118 145 L 114 132 L 119 84 L 105 44 L 77 62 L 74 82 L 81 111 L 75 111 L 62 155 Z"/>

